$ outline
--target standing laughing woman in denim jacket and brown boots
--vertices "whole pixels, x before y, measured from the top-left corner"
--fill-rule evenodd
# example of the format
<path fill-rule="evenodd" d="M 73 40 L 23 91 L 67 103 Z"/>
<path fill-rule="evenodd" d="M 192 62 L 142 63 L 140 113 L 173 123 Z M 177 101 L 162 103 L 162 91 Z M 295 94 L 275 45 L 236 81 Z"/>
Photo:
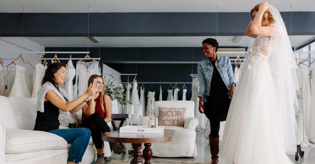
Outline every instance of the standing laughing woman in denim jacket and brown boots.
<path fill-rule="evenodd" d="M 226 120 L 236 80 L 229 57 L 218 56 L 219 44 L 213 38 L 202 42 L 202 52 L 206 59 L 198 63 L 199 75 L 199 112 L 210 120 L 211 163 L 219 162 L 219 129 L 220 122 Z"/>

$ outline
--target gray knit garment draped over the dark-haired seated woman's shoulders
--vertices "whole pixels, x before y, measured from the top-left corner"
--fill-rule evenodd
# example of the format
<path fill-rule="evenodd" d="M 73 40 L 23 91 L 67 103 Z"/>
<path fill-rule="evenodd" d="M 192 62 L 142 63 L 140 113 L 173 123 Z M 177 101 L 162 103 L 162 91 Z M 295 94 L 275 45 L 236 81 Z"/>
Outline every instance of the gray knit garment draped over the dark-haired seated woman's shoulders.
<path fill-rule="evenodd" d="M 45 82 L 40 89 L 36 102 L 36 111 L 44 112 L 44 99 L 45 95 L 48 91 L 54 91 L 58 97 L 60 97 L 65 103 L 67 103 L 66 99 L 69 100 L 68 94 L 62 88 L 58 89 L 50 82 Z M 65 99 L 66 98 L 66 99 Z M 70 115 L 70 112 L 63 111 L 59 109 L 59 112 Z"/>

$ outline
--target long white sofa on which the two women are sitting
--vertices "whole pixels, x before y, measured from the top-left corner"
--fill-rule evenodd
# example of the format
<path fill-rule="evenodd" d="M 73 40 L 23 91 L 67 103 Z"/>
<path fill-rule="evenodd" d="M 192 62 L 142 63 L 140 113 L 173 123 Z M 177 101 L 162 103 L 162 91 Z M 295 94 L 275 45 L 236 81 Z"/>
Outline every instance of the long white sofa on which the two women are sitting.
<path fill-rule="evenodd" d="M 67 163 L 71 144 L 58 135 L 33 130 L 35 104 L 36 98 L 0 96 L 1 164 Z M 104 153 L 111 156 L 108 142 L 104 142 Z M 91 138 L 80 163 L 91 164 L 95 160 L 96 149 Z"/>

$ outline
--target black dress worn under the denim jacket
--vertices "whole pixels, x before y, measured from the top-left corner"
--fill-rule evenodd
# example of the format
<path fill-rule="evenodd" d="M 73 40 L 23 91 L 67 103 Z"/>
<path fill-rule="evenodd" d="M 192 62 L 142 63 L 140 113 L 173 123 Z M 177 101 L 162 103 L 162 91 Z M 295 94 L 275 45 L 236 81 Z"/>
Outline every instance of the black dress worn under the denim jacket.
<path fill-rule="evenodd" d="M 210 61 L 213 66 L 213 74 L 210 83 L 209 96 L 207 102 L 203 103 L 204 114 L 209 120 L 225 121 L 230 107 L 231 99 L 219 71 L 215 67 L 215 61 Z"/>

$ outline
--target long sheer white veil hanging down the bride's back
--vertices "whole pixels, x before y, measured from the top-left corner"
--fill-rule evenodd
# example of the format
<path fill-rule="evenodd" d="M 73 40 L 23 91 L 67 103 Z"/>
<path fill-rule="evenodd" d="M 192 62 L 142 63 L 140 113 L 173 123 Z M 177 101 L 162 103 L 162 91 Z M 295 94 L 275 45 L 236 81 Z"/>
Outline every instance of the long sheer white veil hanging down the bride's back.
<path fill-rule="evenodd" d="M 296 63 L 294 53 L 284 21 L 279 11 L 272 5 L 269 6 L 275 20 L 270 38 L 267 56 L 269 57 L 270 70 L 275 82 L 280 106 L 279 119 L 282 123 L 283 139 L 287 154 L 296 151 L 296 120 L 295 112 L 299 108 L 296 91 L 299 91 L 296 77 Z M 249 50 L 250 51 L 250 50 Z M 245 62 L 250 52 L 245 56 Z M 244 65 L 244 64 L 242 64 Z"/>

